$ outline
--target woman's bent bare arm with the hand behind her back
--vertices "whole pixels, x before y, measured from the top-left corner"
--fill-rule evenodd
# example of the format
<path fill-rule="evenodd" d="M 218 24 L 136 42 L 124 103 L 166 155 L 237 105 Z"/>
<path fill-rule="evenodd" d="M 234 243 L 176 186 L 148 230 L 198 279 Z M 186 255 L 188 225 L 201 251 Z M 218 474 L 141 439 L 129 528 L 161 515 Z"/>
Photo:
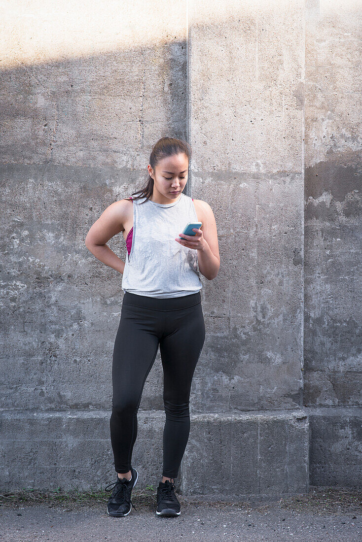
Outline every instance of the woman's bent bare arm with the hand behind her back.
<path fill-rule="evenodd" d="M 129 203 L 125 199 L 112 203 L 94 222 L 85 238 L 85 246 L 106 266 L 123 273 L 125 263 L 106 243 L 124 230 L 124 222 L 129 212 Z"/>

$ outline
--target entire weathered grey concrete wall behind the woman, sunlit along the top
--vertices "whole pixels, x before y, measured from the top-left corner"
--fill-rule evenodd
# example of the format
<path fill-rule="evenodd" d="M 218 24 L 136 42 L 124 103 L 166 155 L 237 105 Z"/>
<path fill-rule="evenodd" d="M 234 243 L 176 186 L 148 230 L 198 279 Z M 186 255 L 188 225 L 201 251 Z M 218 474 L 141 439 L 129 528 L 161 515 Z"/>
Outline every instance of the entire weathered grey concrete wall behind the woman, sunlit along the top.
<path fill-rule="evenodd" d="M 202 278 L 207 335 L 179 491 L 358 486 L 358 3 L 11 4 L 0 487 L 16 489 L 19 469 L 41 488 L 115 476 L 122 277 L 84 239 L 143 184 L 163 135 L 193 147 L 186 193 L 213 208 L 221 257 L 217 278 Z M 109 246 L 125 258 L 122 235 Z M 161 476 L 162 384 L 158 353 L 132 457 L 140 487 Z"/>

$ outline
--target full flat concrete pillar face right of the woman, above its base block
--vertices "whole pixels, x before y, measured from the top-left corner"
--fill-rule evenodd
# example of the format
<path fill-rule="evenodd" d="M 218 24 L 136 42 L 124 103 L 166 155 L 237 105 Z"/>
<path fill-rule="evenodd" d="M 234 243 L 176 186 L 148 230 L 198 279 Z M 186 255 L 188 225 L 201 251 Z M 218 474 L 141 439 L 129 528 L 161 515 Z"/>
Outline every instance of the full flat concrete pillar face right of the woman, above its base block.
<path fill-rule="evenodd" d="M 295 409 L 303 402 L 304 3 L 222 4 L 189 3 L 192 189 L 214 209 L 221 260 L 202 290 L 209 333 L 196 403 Z"/>

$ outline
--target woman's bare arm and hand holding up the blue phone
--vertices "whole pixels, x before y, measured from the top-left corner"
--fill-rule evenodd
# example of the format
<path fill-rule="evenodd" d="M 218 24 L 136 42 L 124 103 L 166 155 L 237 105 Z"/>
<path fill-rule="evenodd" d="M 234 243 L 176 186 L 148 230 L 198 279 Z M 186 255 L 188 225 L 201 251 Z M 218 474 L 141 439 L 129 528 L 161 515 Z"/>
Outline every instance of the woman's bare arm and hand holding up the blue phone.
<path fill-rule="evenodd" d="M 206 279 L 212 280 L 217 276 L 220 268 L 220 254 L 218 231 L 215 217 L 208 203 L 201 199 L 194 200 L 198 208 L 198 218 L 202 222 L 201 228 L 194 228 L 196 235 L 179 234 L 175 241 L 184 247 L 194 248 L 198 251 L 200 273 Z M 196 206 L 195 206 L 196 207 Z"/>

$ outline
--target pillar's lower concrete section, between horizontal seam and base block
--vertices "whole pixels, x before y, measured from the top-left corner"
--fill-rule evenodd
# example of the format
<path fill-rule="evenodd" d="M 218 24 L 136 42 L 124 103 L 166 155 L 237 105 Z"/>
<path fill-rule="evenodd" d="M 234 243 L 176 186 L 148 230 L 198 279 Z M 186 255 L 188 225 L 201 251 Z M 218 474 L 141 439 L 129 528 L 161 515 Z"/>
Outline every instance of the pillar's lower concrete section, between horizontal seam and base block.
<path fill-rule="evenodd" d="M 213 201 L 223 262 L 201 291 L 209 333 L 194 374 L 195 407 L 294 409 L 303 385 L 301 176 L 193 179 L 199 197 Z"/>

